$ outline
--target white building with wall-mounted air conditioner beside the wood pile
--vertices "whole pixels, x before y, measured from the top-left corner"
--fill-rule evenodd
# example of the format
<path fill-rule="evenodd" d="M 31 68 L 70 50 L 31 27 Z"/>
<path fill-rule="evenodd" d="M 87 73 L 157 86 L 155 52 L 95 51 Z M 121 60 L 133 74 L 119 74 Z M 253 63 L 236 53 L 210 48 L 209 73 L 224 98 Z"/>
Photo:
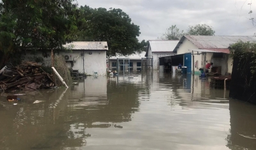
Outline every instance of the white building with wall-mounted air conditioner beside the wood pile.
<path fill-rule="evenodd" d="M 65 57 L 68 68 L 78 70 L 86 75 L 106 75 L 106 52 L 108 43 L 106 41 L 73 41 L 63 45 L 70 49 L 61 51 L 59 54 Z M 51 51 L 47 52 L 50 57 L 44 57 L 38 52 L 36 55 L 26 55 L 29 57 L 42 57 L 45 66 L 51 66 Z"/>

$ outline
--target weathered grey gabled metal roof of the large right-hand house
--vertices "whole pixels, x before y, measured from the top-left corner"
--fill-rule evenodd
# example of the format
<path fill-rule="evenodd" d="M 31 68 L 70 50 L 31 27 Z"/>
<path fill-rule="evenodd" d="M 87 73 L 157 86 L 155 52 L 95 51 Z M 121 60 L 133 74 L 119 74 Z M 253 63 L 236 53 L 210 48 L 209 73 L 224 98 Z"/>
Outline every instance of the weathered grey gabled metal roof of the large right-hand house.
<path fill-rule="evenodd" d="M 255 36 L 182 36 L 179 43 L 173 50 L 177 52 L 177 49 L 182 42 L 187 38 L 191 41 L 198 49 L 213 50 L 216 52 L 229 53 L 228 47 L 230 44 L 236 43 L 237 41 L 256 41 Z"/>

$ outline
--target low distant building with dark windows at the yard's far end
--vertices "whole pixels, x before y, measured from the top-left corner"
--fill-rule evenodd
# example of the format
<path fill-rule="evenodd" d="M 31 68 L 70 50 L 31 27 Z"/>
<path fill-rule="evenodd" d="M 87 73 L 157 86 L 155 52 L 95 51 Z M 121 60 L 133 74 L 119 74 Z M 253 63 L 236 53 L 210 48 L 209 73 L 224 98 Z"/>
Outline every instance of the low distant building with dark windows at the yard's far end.
<path fill-rule="evenodd" d="M 118 54 L 117 56 L 110 57 L 107 60 L 109 65 L 109 70 L 141 71 L 143 63 L 145 63 L 145 61 L 143 61 L 145 60 L 145 54 L 146 52 L 141 52 L 141 53 L 131 54 L 129 56 L 122 56 Z"/>

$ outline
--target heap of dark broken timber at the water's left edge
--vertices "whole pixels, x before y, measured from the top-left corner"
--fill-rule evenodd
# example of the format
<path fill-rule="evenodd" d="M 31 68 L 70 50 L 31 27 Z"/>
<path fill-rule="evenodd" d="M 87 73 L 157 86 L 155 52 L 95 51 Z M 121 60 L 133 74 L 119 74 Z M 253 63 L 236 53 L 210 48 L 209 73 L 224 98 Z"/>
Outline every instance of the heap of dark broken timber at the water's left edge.
<path fill-rule="evenodd" d="M 50 89 L 54 87 L 52 75 L 45 73 L 37 63 L 24 61 L 19 66 L 8 66 L 0 74 L 0 89 L 3 91 Z"/>

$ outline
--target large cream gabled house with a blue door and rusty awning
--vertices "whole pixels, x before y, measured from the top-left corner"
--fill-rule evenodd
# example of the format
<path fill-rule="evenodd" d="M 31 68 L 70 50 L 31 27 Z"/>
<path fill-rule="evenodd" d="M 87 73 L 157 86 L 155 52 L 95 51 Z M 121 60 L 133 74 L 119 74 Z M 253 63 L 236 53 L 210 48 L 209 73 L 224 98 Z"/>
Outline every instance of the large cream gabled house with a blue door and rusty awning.
<path fill-rule="evenodd" d="M 212 70 L 219 75 L 232 73 L 231 44 L 237 41 L 256 41 L 255 36 L 182 36 L 173 52 L 183 55 L 183 66 L 188 73 L 200 73 L 205 64 L 213 63 Z M 175 56 L 173 56 L 175 57 Z"/>

